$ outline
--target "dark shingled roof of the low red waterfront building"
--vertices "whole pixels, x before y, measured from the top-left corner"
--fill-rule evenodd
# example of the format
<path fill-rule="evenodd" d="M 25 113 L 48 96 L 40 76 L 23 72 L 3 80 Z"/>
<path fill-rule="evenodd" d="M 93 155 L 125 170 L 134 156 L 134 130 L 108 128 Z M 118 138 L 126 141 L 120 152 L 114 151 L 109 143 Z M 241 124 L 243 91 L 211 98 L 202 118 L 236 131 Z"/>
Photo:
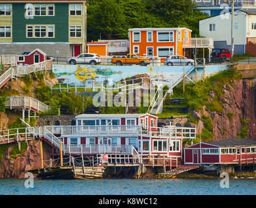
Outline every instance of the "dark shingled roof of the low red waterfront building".
<path fill-rule="evenodd" d="M 256 139 L 253 138 L 231 138 L 221 141 L 205 142 L 216 146 L 256 146 Z"/>

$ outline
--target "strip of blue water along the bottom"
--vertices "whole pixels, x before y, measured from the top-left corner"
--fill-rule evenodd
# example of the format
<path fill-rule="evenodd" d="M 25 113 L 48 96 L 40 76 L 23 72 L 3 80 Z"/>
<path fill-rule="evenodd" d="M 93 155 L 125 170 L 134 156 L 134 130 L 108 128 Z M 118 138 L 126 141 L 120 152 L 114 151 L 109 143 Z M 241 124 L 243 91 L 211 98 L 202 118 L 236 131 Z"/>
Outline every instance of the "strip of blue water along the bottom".
<path fill-rule="evenodd" d="M 0 194 L 8 195 L 240 195 L 256 194 L 255 179 L 230 179 L 229 188 L 220 179 L 98 179 L 39 180 L 34 188 L 24 187 L 25 179 L 0 179 Z"/>

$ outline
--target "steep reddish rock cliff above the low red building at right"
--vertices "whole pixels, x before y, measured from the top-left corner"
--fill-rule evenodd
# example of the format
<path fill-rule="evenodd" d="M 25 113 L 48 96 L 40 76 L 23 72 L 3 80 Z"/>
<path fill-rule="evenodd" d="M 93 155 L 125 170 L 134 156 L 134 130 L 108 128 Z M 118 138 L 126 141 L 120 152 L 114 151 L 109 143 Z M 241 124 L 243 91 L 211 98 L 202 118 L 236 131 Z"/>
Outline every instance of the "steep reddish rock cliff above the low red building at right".
<path fill-rule="evenodd" d="M 213 98 L 214 93 L 210 93 Z M 225 85 L 223 88 L 223 112 L 206 112 L 212 116 L 213 140 L 237 138 L 244 123 L 248 120 L 247 136 L 256 138 L 256 90 L 243 79 L 235 81 L 234 85 Z"/>

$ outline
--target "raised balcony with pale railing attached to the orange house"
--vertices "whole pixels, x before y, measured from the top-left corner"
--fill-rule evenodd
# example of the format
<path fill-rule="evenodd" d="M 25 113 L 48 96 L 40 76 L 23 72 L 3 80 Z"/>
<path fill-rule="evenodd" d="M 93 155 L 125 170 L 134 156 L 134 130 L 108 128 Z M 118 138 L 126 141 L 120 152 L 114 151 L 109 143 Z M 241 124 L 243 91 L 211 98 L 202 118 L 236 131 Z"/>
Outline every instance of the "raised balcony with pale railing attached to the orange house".
<path fill-rule="evenodd" d="M 184 38 L 183 48 L 203 48 L 205 42 L 205 48 L 214 48 L 213 38 Z"/>

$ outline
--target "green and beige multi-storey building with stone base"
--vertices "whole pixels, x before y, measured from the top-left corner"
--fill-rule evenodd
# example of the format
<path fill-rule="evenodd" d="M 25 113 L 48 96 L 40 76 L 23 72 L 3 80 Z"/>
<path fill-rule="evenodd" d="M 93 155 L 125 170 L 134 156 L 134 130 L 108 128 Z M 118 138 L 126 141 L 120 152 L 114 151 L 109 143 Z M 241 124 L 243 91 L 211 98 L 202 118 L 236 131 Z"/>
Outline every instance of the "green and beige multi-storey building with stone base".
<path fill-rule="evenodd" d="M 0 0 L 0 54 L 38 48 L 51 57 L 85 52 L 86 0 Z"/>

